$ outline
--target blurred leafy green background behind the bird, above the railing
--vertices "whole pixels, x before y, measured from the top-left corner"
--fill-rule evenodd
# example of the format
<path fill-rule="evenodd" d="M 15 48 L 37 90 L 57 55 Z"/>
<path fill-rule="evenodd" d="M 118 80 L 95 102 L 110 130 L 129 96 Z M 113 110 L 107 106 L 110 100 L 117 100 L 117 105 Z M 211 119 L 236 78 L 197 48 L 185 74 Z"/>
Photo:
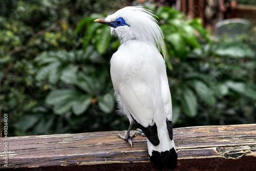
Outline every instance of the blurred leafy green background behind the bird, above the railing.
<path fill-rule="evenodd" d="M 110 78 L 119 40 L 93 20 L 131 5 L 159 17 L 174 127 L 255 123 L 256 1 L 0 4 L 0 109 L 2 126 L 8 113 L 8 136 L 127 130 Z"/>

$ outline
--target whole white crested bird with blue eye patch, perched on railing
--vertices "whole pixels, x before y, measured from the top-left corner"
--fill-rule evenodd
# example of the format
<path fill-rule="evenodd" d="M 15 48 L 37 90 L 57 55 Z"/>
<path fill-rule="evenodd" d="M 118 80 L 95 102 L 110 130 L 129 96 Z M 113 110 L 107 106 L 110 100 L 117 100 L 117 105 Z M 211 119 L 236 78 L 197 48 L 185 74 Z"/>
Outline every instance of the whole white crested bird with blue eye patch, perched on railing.
<path fill-rule="evenodd" d="M 120 39 L 110 60 L 110 74 L 119 113 L 129 119 L 130 126 L 125 136 L 118 136 L 131 146 L 137 134 L 146 136 L 154 166 L 175 168 L 178 155 L 173 139 L 164 36 L 155 17 L 151 10 L 129 6 L 94 22 L 108 25 L 111 35 Z M 130 136 L 134 123 L 140 129 Z"/>

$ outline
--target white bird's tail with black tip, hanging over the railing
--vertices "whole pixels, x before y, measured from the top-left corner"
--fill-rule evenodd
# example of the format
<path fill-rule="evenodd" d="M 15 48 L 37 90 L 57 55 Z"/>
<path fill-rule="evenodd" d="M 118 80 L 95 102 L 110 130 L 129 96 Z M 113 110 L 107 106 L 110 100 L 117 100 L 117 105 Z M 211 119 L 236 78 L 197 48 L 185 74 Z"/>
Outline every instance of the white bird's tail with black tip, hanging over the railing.
<path fill-rule="evenodd" d="M 173 140 L 172 121 L 167 125 L 158 126 L 159 145 L 153 145 L 152 141 L 147 139 L 148 153 L 150 160 L 158 169 L 175 168 L 177 165 L 177 150 Z M 166 129 L 166 127 L 167 129 Z M 171 127 L 170 127 L 171 126 Z M 165 127 L 165 129 L 164 129 Z"/>

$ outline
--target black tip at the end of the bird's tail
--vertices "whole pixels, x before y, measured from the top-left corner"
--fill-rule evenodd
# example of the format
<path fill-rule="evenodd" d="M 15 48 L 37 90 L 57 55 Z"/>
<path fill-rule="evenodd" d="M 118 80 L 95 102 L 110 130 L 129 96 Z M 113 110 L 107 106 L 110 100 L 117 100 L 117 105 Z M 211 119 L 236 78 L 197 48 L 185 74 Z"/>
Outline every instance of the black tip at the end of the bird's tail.
<path fill-rule="evenodd" d="M 150 160 L 152 163 L 154 163 L 155 167 L 159 170 L 167 167 L 167 168 L 175 168 L 177 165 L 177 158 L 178 155 L 174 149 L 170 149 L 169 151 L 165 152 L 157 152 L 153 151 L 152 156 L 150 156 Z"/>

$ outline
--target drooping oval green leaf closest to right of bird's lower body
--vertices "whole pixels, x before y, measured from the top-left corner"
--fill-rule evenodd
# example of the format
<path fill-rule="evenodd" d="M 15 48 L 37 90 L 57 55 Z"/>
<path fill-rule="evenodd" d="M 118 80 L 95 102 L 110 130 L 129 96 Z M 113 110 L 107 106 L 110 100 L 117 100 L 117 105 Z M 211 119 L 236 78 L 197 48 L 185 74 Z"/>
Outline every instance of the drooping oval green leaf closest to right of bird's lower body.
<path fill-rule="evenodd" d="M 188 116 L 188 117 L 195 117 L 197 115 L 197 109 L 198 109 L 198 104 L 197 104 L 197 96 L 193 91 L 191 91 L 187 86 L 183 84 L 181 86 L 181 106 L 183 112 Z"/>

